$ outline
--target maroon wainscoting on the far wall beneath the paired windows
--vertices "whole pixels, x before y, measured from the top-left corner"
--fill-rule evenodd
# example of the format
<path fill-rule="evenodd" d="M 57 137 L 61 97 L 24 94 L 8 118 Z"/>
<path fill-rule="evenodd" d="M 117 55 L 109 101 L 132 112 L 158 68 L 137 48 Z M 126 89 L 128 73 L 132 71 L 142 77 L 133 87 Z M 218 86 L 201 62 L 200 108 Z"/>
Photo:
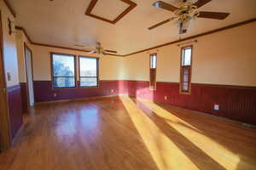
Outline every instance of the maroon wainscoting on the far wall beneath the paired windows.
<path fill-rule="evenodd" d="M 124 81 L 100 81 L 98 88 L 62 89 L 52 88 L 51 81 L 34 81 L 34 94 L 35 102 L 54 101 L 60 99 L 81 99 L 98 96 L 124 94 Z"/>

